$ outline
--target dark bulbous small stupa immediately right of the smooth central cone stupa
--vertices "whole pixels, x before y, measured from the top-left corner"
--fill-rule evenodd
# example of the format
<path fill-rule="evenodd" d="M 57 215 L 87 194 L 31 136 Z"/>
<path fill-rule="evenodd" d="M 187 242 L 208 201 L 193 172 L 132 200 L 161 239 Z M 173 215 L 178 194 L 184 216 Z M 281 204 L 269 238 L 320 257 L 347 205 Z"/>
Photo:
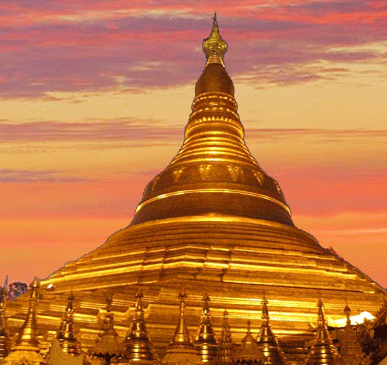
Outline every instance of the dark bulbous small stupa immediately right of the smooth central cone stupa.
<path fill-rule="evenodd" d="M 218 348 L 215 332 L 211 325 L 209 301 L 210 297 L 205 294 L 200 326 L 195 339 L 195 345 L 198 347 L 199 354 L 205 364 L 211 363 L 215 359 Z"/>

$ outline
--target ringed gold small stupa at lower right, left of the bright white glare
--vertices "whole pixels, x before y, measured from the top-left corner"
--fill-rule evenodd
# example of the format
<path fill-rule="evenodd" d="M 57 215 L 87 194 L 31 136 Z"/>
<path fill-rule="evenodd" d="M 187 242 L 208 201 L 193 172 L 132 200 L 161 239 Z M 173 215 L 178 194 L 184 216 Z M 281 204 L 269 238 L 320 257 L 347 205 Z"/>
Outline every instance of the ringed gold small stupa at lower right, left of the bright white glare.
<path fill-rule="evenodd" d="M 315 342 L 312 345 L 304 365 L 332 365 L 338 361 L 338 353 L 333 346 L 325 322 L 323 303 L 318 301 L 318 320 Z"/>

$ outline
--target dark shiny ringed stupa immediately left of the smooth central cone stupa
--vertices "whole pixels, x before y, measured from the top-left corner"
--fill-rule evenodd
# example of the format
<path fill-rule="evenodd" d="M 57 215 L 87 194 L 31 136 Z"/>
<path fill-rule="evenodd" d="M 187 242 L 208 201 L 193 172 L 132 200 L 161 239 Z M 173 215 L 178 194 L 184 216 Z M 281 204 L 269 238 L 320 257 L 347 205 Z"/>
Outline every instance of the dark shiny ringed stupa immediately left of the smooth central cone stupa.
<path fill-rule="evenodd" d="M 142 298 L 142 290 L 139 290 L 136 294 L 136 306 L 132 325 L 123 345 L 129 362 L 136 362 L 138 364 L 158 363 L 159 359 L 145 325 Z"/>

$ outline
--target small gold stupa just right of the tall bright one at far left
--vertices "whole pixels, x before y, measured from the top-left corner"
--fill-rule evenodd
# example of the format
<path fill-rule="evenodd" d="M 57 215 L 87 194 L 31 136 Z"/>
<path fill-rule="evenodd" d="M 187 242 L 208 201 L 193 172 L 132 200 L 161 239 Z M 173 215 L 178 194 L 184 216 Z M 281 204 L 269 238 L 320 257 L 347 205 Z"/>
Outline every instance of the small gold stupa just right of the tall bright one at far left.
<path fill-rule="evenodd" d="M 56 338 L 64 353 L 78 356 L 82 354 L 82 350 L 74 333 L 74 299 L 74 294 L 71 291 Z"/>

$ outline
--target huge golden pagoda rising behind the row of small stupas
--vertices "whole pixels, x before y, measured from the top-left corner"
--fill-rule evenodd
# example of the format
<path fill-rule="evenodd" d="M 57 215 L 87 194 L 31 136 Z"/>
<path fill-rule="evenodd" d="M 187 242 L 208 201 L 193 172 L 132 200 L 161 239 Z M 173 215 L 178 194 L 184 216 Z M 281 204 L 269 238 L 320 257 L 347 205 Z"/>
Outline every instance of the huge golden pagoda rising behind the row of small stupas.
<path fill-rule="evenodd" d="M 276 313 L 270 324 L 285 350 L 287 344 L 303 344 L 313 336 L 320 296 L 329 303 L 332 320 L 343 317 L 344 297 L 354 314 L 375 314 L 382 305 L 382 287 L 295 227 L 279 184 L 250 154 L 216 18 L 203 50 L 207 62 L 180 151 L 147 185 L 126 228 L 42 282 L 40 336 L 56 330 L 60 303 L 72 288 L 81 303 L 78 340 L 85 351 L 95 344 L 95 316 L 106 292 L 113 291 L 118 335 L 125 335 L 130 316 L 145 316 L 161 358 L 175 329 L 176 294 L 182 287 L 190 295 L 189 330 L 195 329 L 201 298 L 208 293 L 214 332 L 221 332 L 227 309 L 233 313 L 235 343 L 245 333 L 244 323 L 260 318 L 257 303 L 266 292 Z M 128 308 L 139 289 L 148 306 L 145 313 L 136 309 L 133 314 Z M 8 305 L 12 334 L 20 330 L 27 305 L 25 295 Z M 303 345 L 299 348 L 302 352 Z M 294 350 L 286 356 L 292 361 L 298 354 Z"/>

